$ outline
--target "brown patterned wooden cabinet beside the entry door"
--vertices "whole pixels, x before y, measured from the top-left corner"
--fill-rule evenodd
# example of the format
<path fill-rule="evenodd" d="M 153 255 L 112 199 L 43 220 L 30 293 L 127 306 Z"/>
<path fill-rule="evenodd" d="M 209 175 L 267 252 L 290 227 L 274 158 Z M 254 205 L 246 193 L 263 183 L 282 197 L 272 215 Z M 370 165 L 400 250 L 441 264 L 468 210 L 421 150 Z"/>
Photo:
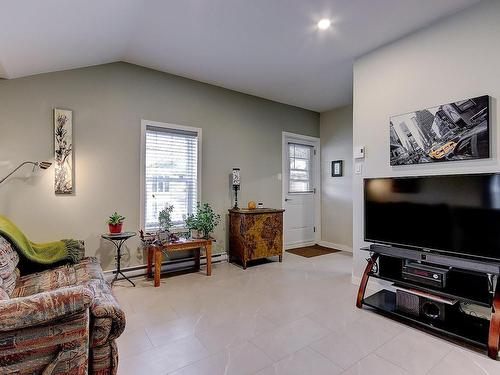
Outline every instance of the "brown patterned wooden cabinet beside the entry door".
<path fill-rule="evenodd" d="M 269 208 L 229 210 L 229 261 L 283 257 L 283 212 Z"/>

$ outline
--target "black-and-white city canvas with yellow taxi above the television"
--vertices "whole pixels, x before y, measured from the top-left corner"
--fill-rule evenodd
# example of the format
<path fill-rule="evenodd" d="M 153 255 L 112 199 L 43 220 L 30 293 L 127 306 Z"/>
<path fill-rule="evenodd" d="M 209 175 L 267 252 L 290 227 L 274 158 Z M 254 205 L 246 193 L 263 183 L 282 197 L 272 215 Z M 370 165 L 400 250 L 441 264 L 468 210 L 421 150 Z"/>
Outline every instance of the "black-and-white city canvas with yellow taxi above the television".
<path fill-rule="evenodd" d="M 488 95 L 390 118 L 391 165 L 490 156 Z"/>

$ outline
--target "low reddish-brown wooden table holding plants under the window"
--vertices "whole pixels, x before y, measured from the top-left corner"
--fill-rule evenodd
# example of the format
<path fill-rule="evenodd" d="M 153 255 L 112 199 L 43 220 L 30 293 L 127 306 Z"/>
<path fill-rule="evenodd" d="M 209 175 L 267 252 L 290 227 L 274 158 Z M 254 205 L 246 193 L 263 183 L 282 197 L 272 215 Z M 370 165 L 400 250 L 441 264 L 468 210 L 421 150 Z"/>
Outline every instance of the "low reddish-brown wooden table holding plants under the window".
<path fill-rule="evenodd" d="M 192 240 L 180 240 L 178 242 L 171 242 L 166 244 L 152 244 L 147 245 L 148 251 L 148 263 L 146 273 L 148 277 L 151 277 L 153 262 L 155 265 L 154 271 L 154 286 L 160 286 L 160 272 L 161 263 L 163 261 L 163 252 L 170 251 L 183 251 L 183 250 L 194 250 L 195 251 L 195 268 L 200 270 L 200 258 L 201 252 L 200 248 L 204 247 L 207 255 L 207 276 L 212 274 L 212 240 L 205 239 L 192 239 Z"/>

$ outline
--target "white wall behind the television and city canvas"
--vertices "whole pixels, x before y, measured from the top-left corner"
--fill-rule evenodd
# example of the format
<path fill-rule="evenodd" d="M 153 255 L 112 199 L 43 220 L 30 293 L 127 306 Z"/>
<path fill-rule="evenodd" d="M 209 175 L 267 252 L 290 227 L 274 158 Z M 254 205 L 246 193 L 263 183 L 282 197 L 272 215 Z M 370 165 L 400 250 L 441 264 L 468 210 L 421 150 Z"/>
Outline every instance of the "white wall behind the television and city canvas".
<path fill-rule="evenodd" d="M 363 178 L 499 170 L 500 1 L 483 1 L 439 24 L 380 48 L 354 66 L 353 144 L 366 146 L 363 175 L 353 178 L 354 277 L 367 254 L 363 242 Z M 391 167 L 389 117 L 491 95 L 488 160 Z"/>

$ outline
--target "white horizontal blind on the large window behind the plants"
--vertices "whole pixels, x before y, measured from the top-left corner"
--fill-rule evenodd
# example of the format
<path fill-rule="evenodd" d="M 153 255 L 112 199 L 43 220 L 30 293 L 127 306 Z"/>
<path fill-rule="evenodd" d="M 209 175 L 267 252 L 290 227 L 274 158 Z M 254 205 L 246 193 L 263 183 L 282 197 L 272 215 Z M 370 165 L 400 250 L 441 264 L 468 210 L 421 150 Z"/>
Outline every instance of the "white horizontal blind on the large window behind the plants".
<path fill-rule="evenodd" d="M 158 213 L 173 205 L 174 226 L 196 210 L 198 133 L 146 126 L 145 227 L 158 229 Z"/>

